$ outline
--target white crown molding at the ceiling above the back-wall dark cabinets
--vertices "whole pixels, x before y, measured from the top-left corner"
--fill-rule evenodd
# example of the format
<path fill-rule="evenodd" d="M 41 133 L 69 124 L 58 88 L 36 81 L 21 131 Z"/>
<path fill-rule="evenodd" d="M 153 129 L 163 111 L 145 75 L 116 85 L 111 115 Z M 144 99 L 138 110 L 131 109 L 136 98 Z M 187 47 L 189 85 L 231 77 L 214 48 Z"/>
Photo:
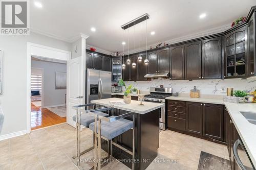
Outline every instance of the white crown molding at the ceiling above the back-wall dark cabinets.
<path fill-rule="evenodd" d="M 230 28 L 231 28 L 230 23 L 228 23 L 228 24 L 220 26 L 220 27 L 215 27 L 215 28 L 200 31 L 197 33 L 188 34 L 188 35 L 181 36 L 178 38 L 173 38 L 173 39 L 169 39 L 169 40 L 165 40 L 165 41 L 159 41 L 157 43 L 148 45 L 147 48 L 145 48 L 145 47 L 141 48 L 141 49 L 137 48 L 137 49 L 135 49 L 135 53 L 138 53 L 139 51 L 145 51 L 146 49 L 149 50 L 150 46 L 155 48 L 161 42 L 165 42 L 167 44 L 174 44 L 174 43 L 183 42 L 183 41 L 187 41 L 187 40 L 191 40 L 191 39 L 196 39 L 196 38 L 200 38 L 200 37 L 204 37 L 204 36 L 208 36 L 208 35 L 222 33 L 222 32 L 227 31 Z M 128 54 L 128 52 L 126 51 L 126 52 L 124 52 L 124 54 L 126 55 L 126 54 Z M 133 53 L 130 53 L 130 54 L 133 54 Z"/>

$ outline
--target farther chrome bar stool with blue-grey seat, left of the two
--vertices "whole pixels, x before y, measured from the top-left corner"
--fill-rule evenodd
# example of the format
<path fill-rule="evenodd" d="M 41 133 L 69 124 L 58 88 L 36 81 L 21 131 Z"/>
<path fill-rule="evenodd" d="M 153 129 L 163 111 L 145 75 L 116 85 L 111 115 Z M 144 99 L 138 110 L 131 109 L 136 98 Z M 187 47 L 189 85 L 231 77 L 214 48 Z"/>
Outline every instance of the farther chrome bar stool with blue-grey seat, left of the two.
<path fill-rule="evenodd" d="M 89 106 L 93 106 L 93 109 L 91 110 L 86 110 Z M 77 129 L 77 132 L 76 132 L 76 156 L 73 156 L 72 158 L 73 159 L 76 159 L 76 164 L 78 166 L 80 166 L 80 157 L 81 155 L 91 151 L 92 149 L 94 149 L 94 146 L 91 147 L 91 148 L 88 148 L 84 151 L 81 152 L 81 143 L 80 143 L 80 140 L 81 140 L 81 125 L 83 125 L 84 127 L 86 128 L 89 128 L 89 125 L 91 123 L 94 122 L 95 120 L 95 115 L 96 117 L 98 116 L 109 116 L 110 114 L 112 114 L 112 112 L 109 114 L 106 114 L 106 113 L 103 113 L 102 111 L 109 111 L 109 109 L 106 109 L 107 107 L 102 107 L 102 108 L 95 108 L 95 104 L 86 104 L 86 105 L 78 105 L 78 106 L 73 106 L 72 108 L 76 110 L 76 115 L 73 116 L 73 120 L 76 122 L 76 129 Z M 85 109 L 82 109 L 82 108 L 85 108 Z M 90 115 L 88 114 L 89 111 L 94 111 L 94 115 Z M 82 114 L 81 114 L 82 113 Z"/>

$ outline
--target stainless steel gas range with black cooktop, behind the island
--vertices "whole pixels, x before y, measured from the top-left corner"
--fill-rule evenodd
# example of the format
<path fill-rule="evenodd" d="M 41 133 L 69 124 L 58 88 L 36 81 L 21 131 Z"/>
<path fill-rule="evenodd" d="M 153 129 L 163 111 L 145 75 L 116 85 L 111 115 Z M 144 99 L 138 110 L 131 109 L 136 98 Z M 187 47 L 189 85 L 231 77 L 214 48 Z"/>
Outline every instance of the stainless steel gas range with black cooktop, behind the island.
<path fill-rule="evenodd" d="M 167 128 L 167 111 L 165 104 L 165 98 L 172 95 L 172 88 L 157 88 L 151 87 L 150 94 L 145 95 L 146 102 L 162 103 L 164 107 L 161 109 L 161 115 L 159 118 L 159 128 L 165 130 Z"/>

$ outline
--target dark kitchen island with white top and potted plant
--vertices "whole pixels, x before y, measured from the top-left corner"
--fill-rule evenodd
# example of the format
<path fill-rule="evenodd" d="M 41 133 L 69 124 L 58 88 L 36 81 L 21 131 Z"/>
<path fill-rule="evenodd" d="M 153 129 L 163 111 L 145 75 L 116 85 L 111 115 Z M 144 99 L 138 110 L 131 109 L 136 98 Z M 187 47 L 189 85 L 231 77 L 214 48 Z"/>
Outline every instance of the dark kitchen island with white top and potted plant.
<path fill-rule="evenodd" d="M 159 115 L 163 104 L 143 102 L 144 105 L 141 106 L 139 101 L 132 100 L 130 104 L 111 105 L 110 101 L 122 101 L 122 99 L 101 99 L 91 101 L 91 103 L 101 106 L 112 106 L 114 108 L 113 115 L 115 116 L 127 112 L 135 113 L 135 169 L 146 169 L 157 157 L 157 150 L 159 148 Z M 127 117 L 127 119 L 132 120 L 132 117 Z M 132 130 L 115 137 L 113 141 L 132 151 Z M 108 144 L 103 139 L 102 143 L 102 149 L 106 151 Z M 112 156 L 132 168 L 132 155 L 114 145 L 112 146 Z"/>

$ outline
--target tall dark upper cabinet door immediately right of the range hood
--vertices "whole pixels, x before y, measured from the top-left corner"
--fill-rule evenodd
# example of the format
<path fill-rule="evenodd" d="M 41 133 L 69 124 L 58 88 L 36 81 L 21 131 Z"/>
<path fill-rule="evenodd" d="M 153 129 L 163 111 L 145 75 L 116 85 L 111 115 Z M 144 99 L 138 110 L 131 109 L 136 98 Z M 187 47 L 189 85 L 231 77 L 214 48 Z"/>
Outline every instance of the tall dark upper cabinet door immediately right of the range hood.
<path fill-rule="evenodd" d="M 184 45 L 174 46 L 170 48 L 170 79 L 184 79 Z"/>

